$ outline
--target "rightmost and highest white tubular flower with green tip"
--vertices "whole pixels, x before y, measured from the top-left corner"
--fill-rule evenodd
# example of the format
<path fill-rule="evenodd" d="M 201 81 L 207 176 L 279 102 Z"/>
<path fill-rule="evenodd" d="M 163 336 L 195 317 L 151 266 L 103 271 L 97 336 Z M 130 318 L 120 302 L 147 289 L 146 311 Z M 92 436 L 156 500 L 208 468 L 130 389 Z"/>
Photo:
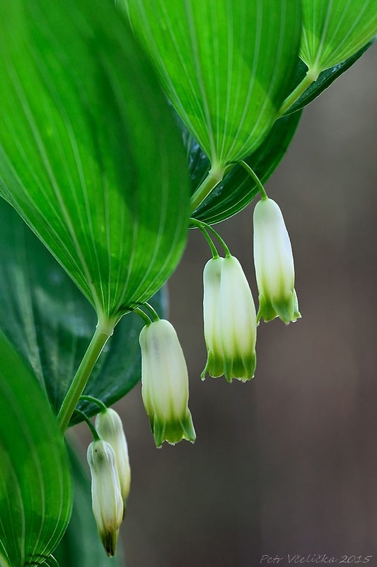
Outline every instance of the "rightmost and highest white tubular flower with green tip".
<path fill-rule="evenodd" d="M 294 289 L 294 257 L 282 211 L 272 199 L 254 210 L 254 262 L 260 307 L 257 320 L 279 317 L 286 324 L 301 317 Z"/>

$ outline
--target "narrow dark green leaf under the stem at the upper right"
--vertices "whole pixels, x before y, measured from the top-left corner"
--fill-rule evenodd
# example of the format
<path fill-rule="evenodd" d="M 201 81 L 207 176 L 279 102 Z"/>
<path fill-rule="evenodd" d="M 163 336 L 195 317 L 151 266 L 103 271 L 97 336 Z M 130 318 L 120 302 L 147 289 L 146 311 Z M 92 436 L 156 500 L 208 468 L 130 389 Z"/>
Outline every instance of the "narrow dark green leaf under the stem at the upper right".
<path fill-rule="evenodd" d="M 349 57 L 344 62 L 335 65 L 335 67 L 330 67 L 330 69 L 326 69 L 325 71 L 320 73 L 318 79 L 313 82 L 308 87 L 308 89 L 306 89 L 306 91 L 294 104 L 292 104 L 292 106 L 289 107 L 288 111 L 286 111 L 286 114 L 291 114 L 298 110 L 301 110 L 301 108 L 316 99 L 317 96 L 319 96 L 325 89 L 327 89 L 327 87 L 330 86 L 330 84 L 335 81 L 335 79 L 340 77 L 340 75 L 343 74 L 344 71 L 347 71 L 347 69 L 349 69 L 349 67 L 351 67 L 354 62 L 356 62 L 361 57 L 361 55 L 363 55 L 363 53 L 366 52 L 366 50 L 369 49 L 371 45 L 373 45 L 374 42 L 375 40 L 373 39 L 373 41 L 370 41 L 369 43 L 364 45 L 364 47 L 361 47 L 361 50 Z M 307 72 L 308 67 L 306 67 L 306 64 L 300 60 L 296 69 L 296 81 L 294 83 L 294 87 L 303 80 Z"/>

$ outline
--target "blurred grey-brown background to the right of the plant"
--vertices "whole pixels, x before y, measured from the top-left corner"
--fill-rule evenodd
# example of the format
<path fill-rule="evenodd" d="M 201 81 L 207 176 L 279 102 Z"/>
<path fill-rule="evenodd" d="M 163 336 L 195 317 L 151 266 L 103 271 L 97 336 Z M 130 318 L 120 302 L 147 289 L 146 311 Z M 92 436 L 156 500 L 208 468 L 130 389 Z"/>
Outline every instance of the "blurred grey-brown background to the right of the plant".
<path fill-rule="evenodd" d="M 308 106 L 267 183 L 291 236 L 303 318 L 260 325 L 251 383 L 199 378 L 209 249 L 190 234 L 170 320 L 197 442 L 155 449 L 139 387 L 117 405 L 133 473 L 127 567 L 254 567 L 264 554 L 280 566 L 288 554 L 377 566 L 376 67 L 374 46 Z M 217 228 L 256 299 L 253 206 Z"/>

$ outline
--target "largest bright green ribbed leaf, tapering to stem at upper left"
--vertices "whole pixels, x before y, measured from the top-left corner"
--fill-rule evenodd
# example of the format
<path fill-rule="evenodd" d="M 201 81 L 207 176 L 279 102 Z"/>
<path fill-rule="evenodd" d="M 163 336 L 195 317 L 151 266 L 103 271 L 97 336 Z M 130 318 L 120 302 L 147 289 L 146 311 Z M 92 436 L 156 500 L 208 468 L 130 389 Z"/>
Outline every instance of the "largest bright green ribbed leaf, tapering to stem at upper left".
<path fill-rule="evenodd" d="M 0 3 L 0 193 L 113 323 L 175 269 L 185 152 L 110 0 Z"/>

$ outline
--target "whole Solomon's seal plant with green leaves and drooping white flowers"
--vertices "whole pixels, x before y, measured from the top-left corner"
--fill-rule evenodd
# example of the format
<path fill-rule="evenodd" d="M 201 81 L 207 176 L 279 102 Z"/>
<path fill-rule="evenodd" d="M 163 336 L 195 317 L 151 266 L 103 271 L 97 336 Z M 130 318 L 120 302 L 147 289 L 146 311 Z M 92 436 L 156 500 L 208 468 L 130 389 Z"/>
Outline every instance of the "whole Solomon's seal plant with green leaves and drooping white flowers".
<path fill-rule="evenodd" d="M 288 233 L 263 183 L 303 107 L 373 43 L 377 7 L 0 0 L 0 21 L 0 564 L 103 567 L 66 430 L 93 432 L 93 512 L 113 555 L 130 472 L 108 406 L 141 380 L 156 446 L 195 440 L 192 371 L 163 288 L 190 229 L 212 253 L 202 376 L 248 381 L 257 321 L 300 316 Z M 255 315 L 212 225 L 258 195 Z"/>

